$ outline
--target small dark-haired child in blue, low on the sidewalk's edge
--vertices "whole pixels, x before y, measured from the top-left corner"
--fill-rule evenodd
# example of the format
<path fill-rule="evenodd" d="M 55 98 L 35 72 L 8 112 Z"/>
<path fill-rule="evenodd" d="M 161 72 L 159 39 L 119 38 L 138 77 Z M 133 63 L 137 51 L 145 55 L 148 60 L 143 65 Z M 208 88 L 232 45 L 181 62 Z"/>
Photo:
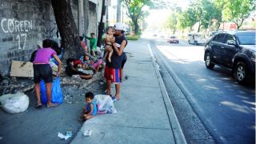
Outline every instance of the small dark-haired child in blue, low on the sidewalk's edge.
<path fill-rule="evenodd" d="M 94 93 L 86 93 L 86 107 L 83 108 L 83 120 L 93 118 L 97 114 L 97 105 L 94 101 Z"/>

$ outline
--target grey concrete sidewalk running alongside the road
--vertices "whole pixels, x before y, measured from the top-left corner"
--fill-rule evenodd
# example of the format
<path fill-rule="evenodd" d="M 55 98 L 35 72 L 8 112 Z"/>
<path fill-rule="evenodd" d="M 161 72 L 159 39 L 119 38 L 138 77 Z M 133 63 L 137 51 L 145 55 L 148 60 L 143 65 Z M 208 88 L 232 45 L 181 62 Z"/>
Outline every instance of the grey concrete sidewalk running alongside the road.
<path fill-rule="evenodd" d="M 121 84 L 121 100 L 114 102 L 118 113 L 84 122 L 71 143 L 186 143 L 147 42 L 129 42 L 125 51 L 128 79 Z M 92 131 L 90 137 L 84 130 Z"/>

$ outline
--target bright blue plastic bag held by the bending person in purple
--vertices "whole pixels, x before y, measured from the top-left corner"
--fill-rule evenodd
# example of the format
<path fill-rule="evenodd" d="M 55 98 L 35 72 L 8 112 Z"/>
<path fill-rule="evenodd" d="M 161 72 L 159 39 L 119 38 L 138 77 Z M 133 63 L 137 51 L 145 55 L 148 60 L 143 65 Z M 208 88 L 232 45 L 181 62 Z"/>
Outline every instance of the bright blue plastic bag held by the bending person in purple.
<path fill-rule="evenodd" d="M 46 97 L 46 84 L 43 80 L 40 82 L 41 88 L 41 102 L 42 104 L 47 103 Z M 63 102 L 63 94 L 60 78 L 57 77 L 54 79 L 54 82 L 51 83 L 51 102 L 53 103 L 62 103 Z"/>

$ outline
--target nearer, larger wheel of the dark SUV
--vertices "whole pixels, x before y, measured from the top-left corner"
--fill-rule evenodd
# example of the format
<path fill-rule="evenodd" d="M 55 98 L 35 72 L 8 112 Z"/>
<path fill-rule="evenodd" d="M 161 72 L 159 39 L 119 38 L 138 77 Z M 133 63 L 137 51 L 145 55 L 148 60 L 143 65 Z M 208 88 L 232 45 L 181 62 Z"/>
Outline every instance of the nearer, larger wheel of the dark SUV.
<path fill-rule="evenodd" d="M 248 78 L 250 78 L 250 75 L 245 62 L 238 62 L 235 65 L 234 78 L 239 84 L 246 84 L 246 82 L 249 82 Z"/>

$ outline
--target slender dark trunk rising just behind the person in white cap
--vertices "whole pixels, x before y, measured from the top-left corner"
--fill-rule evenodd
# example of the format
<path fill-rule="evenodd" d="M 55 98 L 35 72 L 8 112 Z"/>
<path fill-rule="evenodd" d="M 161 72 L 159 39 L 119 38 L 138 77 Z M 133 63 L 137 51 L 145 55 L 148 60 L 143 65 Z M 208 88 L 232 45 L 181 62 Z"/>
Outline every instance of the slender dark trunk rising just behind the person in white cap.
<path fill-rule="evenodd" d="M 106 14 L 106 6 L 105 6 L 105 0 L 102 1 L 102 16 L 101 16 L 101 22 L 99 22 L 98 25 L 98 41 L 97 41 L 97 46 L 101 47 L 102 46 L 102 34 L 103 30 L 105 27 L 105 24 L 103 22 L 103 16 Z"/>

